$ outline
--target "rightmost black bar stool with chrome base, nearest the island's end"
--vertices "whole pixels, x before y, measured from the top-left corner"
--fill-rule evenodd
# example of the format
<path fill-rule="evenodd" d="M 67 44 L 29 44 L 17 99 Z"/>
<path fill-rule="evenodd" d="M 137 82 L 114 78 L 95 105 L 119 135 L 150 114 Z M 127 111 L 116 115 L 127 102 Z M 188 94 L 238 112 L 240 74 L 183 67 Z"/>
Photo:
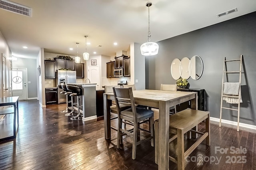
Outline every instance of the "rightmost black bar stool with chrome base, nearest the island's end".
<path fill-rule="evenodd" d="M 68 90 L 71 90 L 72 93 L 70 94 L 71 96 L 71 101 L 73 101 L 73 97 L 77 97 L 77 115 L 76 116 L 72 116 L 70 118 L 70 120 L 82 120 L 82 115 L 80 115 L 80 108 L 82 107 L 82 105 L 79 104 L 79 96 L 83 95 L 82 92 L 82 88 L 78 87 L 78 86 L 71 86 L 71 85 L 67 85 L 66 86 Z M 74 112 L 74 103 L 72 102 L 72 110 Z"/>

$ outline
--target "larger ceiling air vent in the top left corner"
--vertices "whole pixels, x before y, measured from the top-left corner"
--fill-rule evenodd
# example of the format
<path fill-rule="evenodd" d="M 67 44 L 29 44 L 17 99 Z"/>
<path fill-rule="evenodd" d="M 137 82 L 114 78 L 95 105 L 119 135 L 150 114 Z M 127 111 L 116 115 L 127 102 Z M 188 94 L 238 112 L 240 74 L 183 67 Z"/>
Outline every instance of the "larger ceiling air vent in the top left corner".
<path fill-rule="evenodd" d="M 31 16 L 31 8 L 26 6 L 10 2 L 8 0 L 0 0 L 0 8 L 16 14 L 21 14 L 25 16 Z"/>

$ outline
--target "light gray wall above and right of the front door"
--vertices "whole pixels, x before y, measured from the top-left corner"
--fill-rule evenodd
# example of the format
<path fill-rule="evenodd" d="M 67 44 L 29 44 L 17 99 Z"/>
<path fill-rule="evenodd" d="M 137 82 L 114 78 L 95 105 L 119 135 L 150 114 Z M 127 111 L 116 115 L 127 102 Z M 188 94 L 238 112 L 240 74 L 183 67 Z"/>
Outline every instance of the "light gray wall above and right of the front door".
<path fill-rule="evenodd" d="M 12 68 L 27 68 L 28 98 L 37 98 L 37 67 L 36 59 L 18 58 L 12 62 Z"/>

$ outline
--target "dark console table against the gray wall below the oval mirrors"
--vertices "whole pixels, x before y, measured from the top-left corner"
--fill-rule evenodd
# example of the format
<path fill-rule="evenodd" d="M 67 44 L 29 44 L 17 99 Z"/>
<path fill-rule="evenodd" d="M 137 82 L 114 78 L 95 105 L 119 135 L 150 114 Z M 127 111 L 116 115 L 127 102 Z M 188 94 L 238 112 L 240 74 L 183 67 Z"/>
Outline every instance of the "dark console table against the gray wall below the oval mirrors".
<path fill-rule="evenodd" d="M 198 95 L 198 110 L 208 111 L 208 97 L 204 89 L 196 89 L 196 88 L 178 88 L 178 91 L 184 92 L 197 92 Z M 185 110 L 186 108 L 191 108 L 191 102 L 184 102 L 178 106 L 176 106 L 177 112 L 181 110 Z"/>

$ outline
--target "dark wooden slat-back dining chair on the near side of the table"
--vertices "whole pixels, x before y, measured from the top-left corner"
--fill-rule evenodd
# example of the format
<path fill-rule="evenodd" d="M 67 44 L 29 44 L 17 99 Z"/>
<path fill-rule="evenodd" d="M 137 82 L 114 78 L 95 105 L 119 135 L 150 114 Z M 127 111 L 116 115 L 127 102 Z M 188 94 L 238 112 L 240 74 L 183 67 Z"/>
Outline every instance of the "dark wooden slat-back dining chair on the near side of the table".
<path fill-rule="evenodd" d="M 124 134 L 128 134 L 129 136 L 133 136 L 132 142 L 132 159 L 136 158 L 136 146 L 140 144 L 144 140 L 140 140 L 137 142 L 138 130 L 142 130 L 150 133 L 151 146 L 154 146 L 154 111 L 148 110 L 146 108 L 138 108 L 135 107 L 134 97 L 132 93 L 132 88 L 113 88 L 114 98 L 116 101 L 116 108 L 118 110 L 118 135 L 117 135 L 117 148 L 120 148 L 120 144 L 122 143 L 122 136 Z M 121 110 L 120 105 L 126 103 L 130 105 L 131 108 L 127 110 Z M 150 119 L 150 131 L 142 129 L 138 127 L 138 124 L 143 122 L 146 119 Z M 133 131 L 128 131 L 122 128 L 122 119 L 133 122 Z"/>

